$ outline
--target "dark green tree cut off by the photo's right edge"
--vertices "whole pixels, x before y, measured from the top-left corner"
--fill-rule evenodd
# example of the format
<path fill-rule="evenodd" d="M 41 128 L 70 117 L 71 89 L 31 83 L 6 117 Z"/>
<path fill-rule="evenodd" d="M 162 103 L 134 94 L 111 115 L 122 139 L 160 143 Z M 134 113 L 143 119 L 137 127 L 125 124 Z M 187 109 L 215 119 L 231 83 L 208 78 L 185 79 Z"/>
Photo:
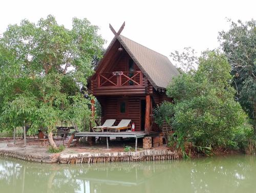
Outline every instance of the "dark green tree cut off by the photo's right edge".
<path fill-rule="evenodd" d="M 256 20 L 228 21 L 230 29 L 219 32 L 219 41 L 231 65 L 236 96 L 252 119 L 256 135 Z"/>

